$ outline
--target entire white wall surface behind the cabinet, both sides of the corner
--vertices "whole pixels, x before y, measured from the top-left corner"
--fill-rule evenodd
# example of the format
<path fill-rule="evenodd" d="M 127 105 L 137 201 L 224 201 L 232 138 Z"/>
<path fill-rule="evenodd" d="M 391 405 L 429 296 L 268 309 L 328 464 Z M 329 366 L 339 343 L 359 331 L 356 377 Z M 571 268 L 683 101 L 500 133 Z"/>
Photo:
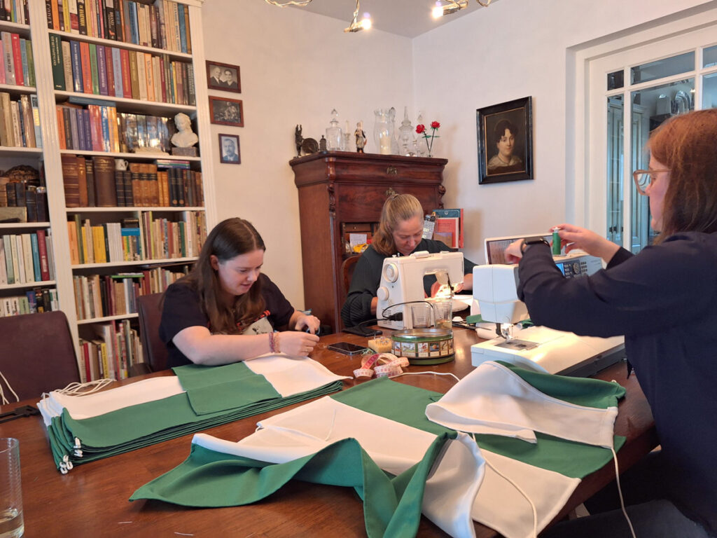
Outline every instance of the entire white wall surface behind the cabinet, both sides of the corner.
<path fill-rule="evenodd" d="M 321 0 L 331 1 L 331 0 Z M 265 272 L 303 304 L 298 199 L 288 161 L 294 126 L 320 138 L 331 108 L 364 121 L 409 106 L 412 120 L 441 122 L 435 156 L 446 157 L 445 207 L 465 208 L 465 253 L 483 260 L 483 238 L 546 230 L 570 214 L 566 133 L 574 118 L 571 47 L 680 11 L 700 0 L 500 0 L 413 40 L 376 31 L 344 34 L 348 21 L 262 0 L 207 0 L 206 58 L 241 67 L 244 128 L 212 126 L 219 219 L 252 221 L 267 244 Z M 478 185 L 475 110 L 533 97 L 534 181 Z M 201 103 L 200 103 L 201 104 Z M 415 123 L 415 122 L 414 122 Z M 218 133 L 239 134 L 242 164 L 219 164 Z M 367 151 L 373 151 L 369 141 Z M 567 190 L 570 196 L 570 189 Z M 310 307 L 310 305 L 306 305 Z"/>

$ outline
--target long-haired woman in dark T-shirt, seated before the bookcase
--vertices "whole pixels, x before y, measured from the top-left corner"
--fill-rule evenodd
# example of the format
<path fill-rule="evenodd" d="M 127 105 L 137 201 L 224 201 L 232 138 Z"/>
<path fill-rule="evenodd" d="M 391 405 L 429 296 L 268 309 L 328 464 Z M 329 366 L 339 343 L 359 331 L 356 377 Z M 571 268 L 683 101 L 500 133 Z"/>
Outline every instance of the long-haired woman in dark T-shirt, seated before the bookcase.
<path fill-rule="evenodd" d="M 224 220 L 209 232 L 191 273 L 164 293 L 159 334 L 169 367 L 310 353 L 319 320 L 293 308 L 261 272 L 265 250 L 243 219 Z"/>

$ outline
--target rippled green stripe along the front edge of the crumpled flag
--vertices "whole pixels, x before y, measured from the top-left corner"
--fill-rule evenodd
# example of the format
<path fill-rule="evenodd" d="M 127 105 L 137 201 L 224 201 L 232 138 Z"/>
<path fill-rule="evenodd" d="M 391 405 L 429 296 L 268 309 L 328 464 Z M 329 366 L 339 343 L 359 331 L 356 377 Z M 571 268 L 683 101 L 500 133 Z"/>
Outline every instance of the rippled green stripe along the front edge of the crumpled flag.
<path fill-rule="evenodd" d="M 414 537 L 429 471 L 449 435 L 437 437 L 422 461 L 391 478 L 355 439 L 343 439 L 288 463 L 265 463 L 192 445 L 189 458 L 130 497 L 181 506 L 241 506 L 265 499 L 292 478 L 353 487 L 364 501 L 369 537 Z"/>

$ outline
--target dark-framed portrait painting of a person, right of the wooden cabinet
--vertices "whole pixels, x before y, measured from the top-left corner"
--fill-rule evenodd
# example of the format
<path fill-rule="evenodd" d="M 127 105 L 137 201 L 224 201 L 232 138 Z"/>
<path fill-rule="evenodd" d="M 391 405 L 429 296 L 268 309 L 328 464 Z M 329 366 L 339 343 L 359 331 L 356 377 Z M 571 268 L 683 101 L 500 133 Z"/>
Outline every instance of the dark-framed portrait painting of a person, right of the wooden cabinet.
<path fill-rule="evenodd" d="M 526 97 L 475 110 L 478 183 L 533 179 L 533 106 Z"/>

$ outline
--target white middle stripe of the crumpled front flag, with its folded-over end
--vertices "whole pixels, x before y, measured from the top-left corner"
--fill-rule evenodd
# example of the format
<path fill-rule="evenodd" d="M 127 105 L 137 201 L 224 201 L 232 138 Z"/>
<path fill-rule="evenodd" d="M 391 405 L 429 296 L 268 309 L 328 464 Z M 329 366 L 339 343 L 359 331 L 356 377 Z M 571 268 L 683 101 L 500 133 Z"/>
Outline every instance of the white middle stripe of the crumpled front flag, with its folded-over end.
<path fill-rule="evenodd" d="M 259 427 L 237 443 L 201 433 L 194 435 L 192 443 L 222 453 L 285 463 L 338 440 L 355 438 L 381 469 L 399 474 L 422 460 L 436 438 L 330 397 L 269 417 Z M 483 479 L 483 466 L 478 445 L 462 433 L 458 440 L 447 442 L 434 463 L 422 511 L 451 536 L 475 536 L 470 511 Z"/>

